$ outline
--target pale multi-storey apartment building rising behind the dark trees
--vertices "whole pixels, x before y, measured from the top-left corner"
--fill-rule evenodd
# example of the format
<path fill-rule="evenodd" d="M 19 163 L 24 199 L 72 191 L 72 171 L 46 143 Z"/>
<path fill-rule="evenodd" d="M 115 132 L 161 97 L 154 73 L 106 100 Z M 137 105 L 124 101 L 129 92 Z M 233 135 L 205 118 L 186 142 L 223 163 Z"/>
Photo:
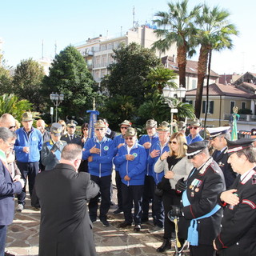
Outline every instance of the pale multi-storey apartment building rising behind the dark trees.
<path fill-rule="evenodd" d="M 129 45 L 131 42 L 136 42 L 145 48 L 151 48 L 152 44 L 158 40 L 154 29 L 150 26 L 136 26 L 128 30 L 126 34 L 119 34 L 113 38 L 102 37 L 100 34 L 97 38 L 88 38 L 84 44 L 75 46 L 75 48 L 84 56 L 96 82 L 100 83 L 102 78 L 109 74 L 107 66 L 114 62 L 114 49 L 117 49 L 121 43 Z M 160 58 L 161 54 L 158 50 L 155 54 Z M 170 47 L 170 50 L 164 53 L 172 56 L 177 54 L 175 45 Z"/>

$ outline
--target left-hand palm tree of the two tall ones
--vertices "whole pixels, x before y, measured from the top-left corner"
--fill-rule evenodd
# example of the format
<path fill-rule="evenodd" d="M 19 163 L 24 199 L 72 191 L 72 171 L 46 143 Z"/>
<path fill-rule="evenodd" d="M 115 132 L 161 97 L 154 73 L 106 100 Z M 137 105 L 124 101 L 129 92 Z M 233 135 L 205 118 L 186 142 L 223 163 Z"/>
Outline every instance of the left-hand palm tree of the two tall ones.
<path fill-rule="evenodd" d="M 198 14 L 201 5 L 195 6 L 193 10 L 188 11 L 188 0 L 182 2 L 169 2 L 169 11 L 159 11 L 155 16 L 154 23 L 159 27 L 154 30 L 158 41 L 154 42 L 153 49 L 165 52 L 174 43 L 177 44 L 177 62 L 179 69 L 179 85 L 186 88 L 186 54 L 193 45 L 194 26 L 192 19 Z"/>

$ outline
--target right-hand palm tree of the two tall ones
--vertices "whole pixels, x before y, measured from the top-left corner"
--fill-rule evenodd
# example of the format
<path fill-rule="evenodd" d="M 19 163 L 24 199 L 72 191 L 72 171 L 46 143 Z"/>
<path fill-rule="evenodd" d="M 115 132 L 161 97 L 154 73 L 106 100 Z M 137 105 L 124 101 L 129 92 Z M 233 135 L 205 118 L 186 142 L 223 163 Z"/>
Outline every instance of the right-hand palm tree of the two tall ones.
<path fill-rule="evenodd" d="M 202 88 L 204 78 L 206 76 L 207 63 L 209 58 L 208 76 L 210 76 L 210 62 L 213 50 L 223 50 L 225 48 L 231 49 L 233 44 L 230 38 L 231 35 L 237 35 L 238 30 L 234 24 L 229 24 L 227 18 L 230 13 L 226 10 L 219 10 L 215 6 L 210 10 L 209 6 L 204 5 L 202 14 L 198 14 L 196 23 L 198 24 L 198 32 L 196 39 L 200 47 L 200 54 L 198 58 L 198 86 L 195 101 L 195 115 L 200 118 L 202 105 Z M 209 78 L 207 79 L 209 83 Z M 208 99 L 206 100 L 206 114 L 208 107 Z"/>

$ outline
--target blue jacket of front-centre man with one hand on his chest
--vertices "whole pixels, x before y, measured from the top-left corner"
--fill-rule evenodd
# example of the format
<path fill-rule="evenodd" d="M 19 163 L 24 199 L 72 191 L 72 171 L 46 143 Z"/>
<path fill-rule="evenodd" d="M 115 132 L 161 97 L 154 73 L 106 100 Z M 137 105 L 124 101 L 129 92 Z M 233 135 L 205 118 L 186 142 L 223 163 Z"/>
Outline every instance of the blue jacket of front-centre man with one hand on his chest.
<path fill-rule="evenodd" d="M 146 150 L 143 146 L 135 142 L 134 146 L 130 150 L 130 154 L 134 155 L 134 160 L 126 160 L 126 154 L 128 154 L 127 145 L 121 146 L 118 150 L 118 154 L 114 158 L 114 164 L 120 167 L 119 174 L 122 178 L 122 183 L 127 186 L 144 185 L 145 173 L 146 173 Z M 130 181 L 125 181 L 124 177 L 128 175 Z"/>

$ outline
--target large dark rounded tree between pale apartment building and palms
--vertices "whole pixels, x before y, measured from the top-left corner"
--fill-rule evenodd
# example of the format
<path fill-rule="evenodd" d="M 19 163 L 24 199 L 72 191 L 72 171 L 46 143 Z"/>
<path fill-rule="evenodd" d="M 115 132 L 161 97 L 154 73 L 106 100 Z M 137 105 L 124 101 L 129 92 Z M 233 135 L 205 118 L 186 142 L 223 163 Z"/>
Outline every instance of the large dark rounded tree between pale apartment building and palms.
<path fill-rule="evenodd" d="M 116 94 L 131 96 L 134 106 L 140 106 L 145 101 L 144 96 L 154 92 L 150 86 L 145 86 L 146 76 L 160 60 L 153 50 L 134 42 L 114 50 L 113 58 L 115 62 L 109 66 L 110 74 L 102 79 L 101 89 L 107 90 L 110 97 Z"/>

